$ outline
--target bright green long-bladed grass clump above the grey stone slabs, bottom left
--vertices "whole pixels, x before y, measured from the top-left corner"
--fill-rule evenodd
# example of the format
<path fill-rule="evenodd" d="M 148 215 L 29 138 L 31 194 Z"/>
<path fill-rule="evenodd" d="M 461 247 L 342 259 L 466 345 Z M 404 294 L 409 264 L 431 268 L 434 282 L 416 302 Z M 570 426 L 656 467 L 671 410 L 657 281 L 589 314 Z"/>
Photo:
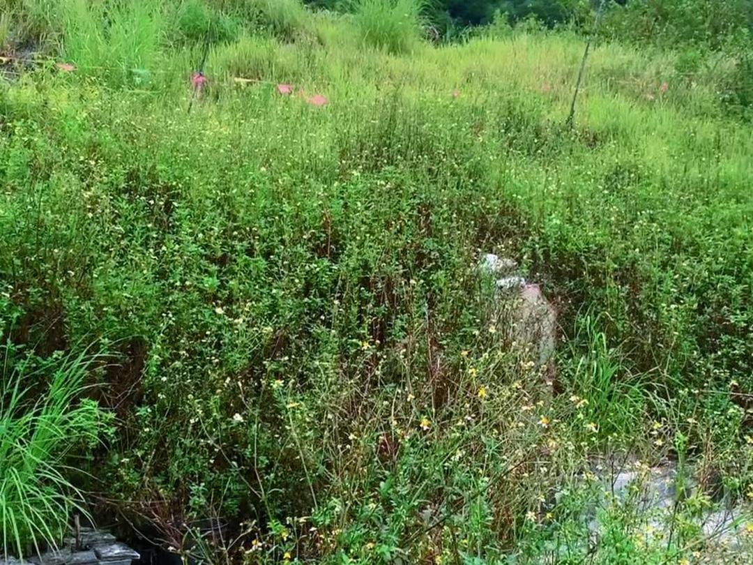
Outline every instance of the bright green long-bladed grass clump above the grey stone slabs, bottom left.
<path fill-rule="evenodd" d="M 11 344 L 2 350 L 0 549 L 29 557 L 62 542 L 72 512 L 88 516 L 67 466 L 69 456 L 99 441 L 106 419 L 81 396 L 96 357 L 17 359 Z"/>

